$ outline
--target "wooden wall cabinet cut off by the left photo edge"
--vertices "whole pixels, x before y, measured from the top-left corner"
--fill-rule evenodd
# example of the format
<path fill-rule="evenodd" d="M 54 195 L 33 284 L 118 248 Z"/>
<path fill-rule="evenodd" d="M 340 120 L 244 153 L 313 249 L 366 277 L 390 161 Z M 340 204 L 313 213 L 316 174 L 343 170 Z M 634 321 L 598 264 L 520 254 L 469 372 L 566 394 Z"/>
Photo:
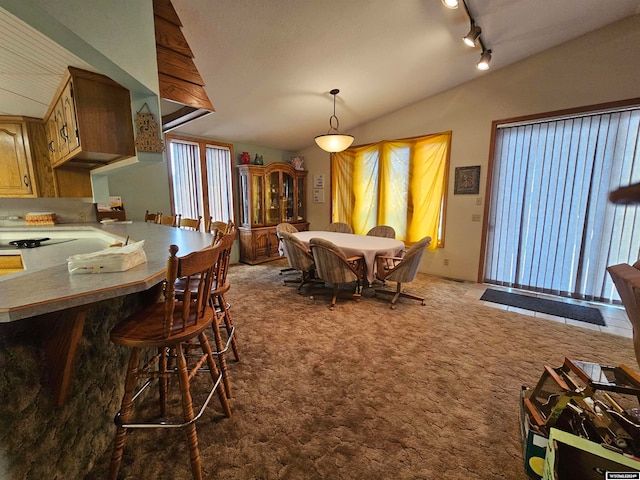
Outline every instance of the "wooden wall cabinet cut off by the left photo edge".
<path fill-rule="evenodd" d="M 42 120 L 0 117 L 0 197 L 53 197 Z"/>

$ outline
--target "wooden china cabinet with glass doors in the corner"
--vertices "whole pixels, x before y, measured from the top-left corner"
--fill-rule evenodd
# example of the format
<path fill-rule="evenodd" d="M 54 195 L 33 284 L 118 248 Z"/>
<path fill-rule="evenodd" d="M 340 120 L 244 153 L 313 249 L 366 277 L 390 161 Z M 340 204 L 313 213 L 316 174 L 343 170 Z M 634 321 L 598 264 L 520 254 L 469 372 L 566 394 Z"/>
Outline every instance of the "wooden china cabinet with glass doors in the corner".
<path fill-rule="evenodd" d="M 240 261 L 254 265 L 280 258 L 276 225 L 308 230 L 306 170 L 288 163 L 239 165 Z"/>

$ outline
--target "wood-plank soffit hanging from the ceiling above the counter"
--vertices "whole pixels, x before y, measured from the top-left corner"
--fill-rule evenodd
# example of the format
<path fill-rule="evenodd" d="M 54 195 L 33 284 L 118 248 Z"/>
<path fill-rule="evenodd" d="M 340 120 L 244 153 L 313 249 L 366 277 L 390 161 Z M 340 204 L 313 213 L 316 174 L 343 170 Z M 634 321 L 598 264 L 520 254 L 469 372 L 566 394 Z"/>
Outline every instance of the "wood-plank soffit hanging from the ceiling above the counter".
<path fill-rule="evenodd" d="M 171 0 L 153 0 L 153 21 L 160 98 L 183 105 L 178 111 L 162 116 L 162 131 L 167 132 L 215 109 Z"/>

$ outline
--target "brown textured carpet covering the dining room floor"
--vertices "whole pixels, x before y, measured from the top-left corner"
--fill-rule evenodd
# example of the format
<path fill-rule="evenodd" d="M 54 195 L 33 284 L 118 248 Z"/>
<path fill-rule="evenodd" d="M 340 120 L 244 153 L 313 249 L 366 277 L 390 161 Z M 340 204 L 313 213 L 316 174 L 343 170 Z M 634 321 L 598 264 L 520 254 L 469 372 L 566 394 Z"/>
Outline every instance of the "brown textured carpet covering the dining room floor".
<path fill-rule="evenodd" d="M 521 385 L 565 356 L 638 370 L 631 340 L 485 307 L 468 283 L 419 274 L 407 289 L 426 306 L 330 311 L 284 286 L 282 267 L 231 269 L 242 361 L 233 416 L 214 399 L 198 423 L 206 479 L 526 479 Z M 119 478 L 190 479 L 184 439 L 136 431 Z M 88 479 L 106 478 L 109 455 Z"/>

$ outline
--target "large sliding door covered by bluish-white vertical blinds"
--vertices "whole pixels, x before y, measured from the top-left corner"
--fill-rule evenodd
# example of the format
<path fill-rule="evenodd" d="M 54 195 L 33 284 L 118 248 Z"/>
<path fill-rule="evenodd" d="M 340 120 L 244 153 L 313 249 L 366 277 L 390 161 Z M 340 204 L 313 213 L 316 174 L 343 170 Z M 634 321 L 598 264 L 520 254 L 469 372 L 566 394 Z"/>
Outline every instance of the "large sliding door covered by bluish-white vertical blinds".
<path fill-rule="evenodd" d="M 609 192 L 640 182 L 640 108 L 498 126 L 484 281 L 619 297 L 606 267 L 640 257 L 640 212 Z"/>

